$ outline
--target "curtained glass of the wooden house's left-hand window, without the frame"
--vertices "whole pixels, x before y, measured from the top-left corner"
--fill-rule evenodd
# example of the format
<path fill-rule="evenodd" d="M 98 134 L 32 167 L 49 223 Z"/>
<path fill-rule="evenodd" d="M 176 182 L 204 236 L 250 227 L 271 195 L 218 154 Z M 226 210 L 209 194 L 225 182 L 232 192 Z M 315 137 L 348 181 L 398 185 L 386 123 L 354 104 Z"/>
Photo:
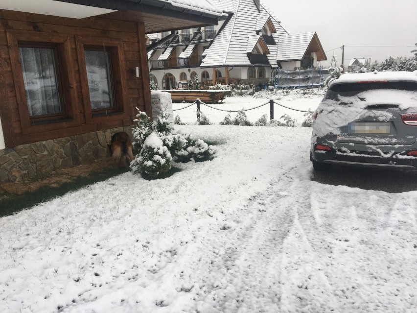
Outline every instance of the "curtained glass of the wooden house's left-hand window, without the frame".
<path fill-rule="evenodd" d="M 29 116 L 62 113 L 52 48 L 19 48 Z"/>

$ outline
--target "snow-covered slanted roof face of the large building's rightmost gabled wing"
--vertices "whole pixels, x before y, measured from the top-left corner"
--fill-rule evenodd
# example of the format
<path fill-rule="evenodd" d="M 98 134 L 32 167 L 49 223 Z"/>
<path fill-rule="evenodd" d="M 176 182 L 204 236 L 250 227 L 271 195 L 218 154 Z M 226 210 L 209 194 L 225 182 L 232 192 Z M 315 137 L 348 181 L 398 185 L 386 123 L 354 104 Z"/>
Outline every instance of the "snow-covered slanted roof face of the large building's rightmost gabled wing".
<path fill-rule="evenodd" d="M 277 61 L 301 60 L 313 39 L 314 33 L 279 37 Z"/>

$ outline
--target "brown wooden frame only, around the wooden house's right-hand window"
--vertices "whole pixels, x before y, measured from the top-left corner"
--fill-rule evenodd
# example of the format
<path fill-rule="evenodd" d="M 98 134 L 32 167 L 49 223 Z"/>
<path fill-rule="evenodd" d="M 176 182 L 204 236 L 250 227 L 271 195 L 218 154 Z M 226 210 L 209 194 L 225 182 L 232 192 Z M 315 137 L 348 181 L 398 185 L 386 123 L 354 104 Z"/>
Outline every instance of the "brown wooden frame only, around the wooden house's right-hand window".
<path fill-rule="evenodd" d="M 80 71 L 81 93 L 83 97 L 84 114 L 87 124 L 101 123 L 109 120 L 127 120 L 127 80 L 125 73 L 123 41 L 121 39 L 102 37 L 75 36 L 77 48 L 78 67 Z M 102 48 L 104 47 L 104 48 Z M 87 66 L 85 50 L 106 50 L 110 52 L 111 80 L 114 92 L 114 108 L 96 109 L 91 108 L 90 90 L 88 86 Z"/>

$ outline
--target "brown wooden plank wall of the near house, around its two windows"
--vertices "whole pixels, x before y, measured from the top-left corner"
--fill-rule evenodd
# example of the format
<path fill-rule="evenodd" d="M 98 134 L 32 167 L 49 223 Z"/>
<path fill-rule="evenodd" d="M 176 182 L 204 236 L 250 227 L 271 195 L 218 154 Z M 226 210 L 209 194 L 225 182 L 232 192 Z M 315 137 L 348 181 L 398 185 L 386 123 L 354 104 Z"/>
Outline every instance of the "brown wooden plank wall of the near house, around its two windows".
<path fill-rule="evenodd" d="M 70 55 L 66 55 L 65 58 L 70 58 L 70 64 L 73 67 L 73 77 L 71 77 L 73 86 L 64 86 L 64 88 L 75 88 L 75 92 L 72 92 L 74 103 L 71 105 L 76 112 L 77 122 L 63 123 L 59 128 L 56 125 L 47 124 L 41 126 L 41 131 L 39 129 L 24 131 L 19 112 L 19 108 L 22 110 L 22 103 L 19 102 L 25 95 L 19 94 L 19 82 L 14 80 L 13 75 L 13 67 L 16 69 L 20 65 L 12 64 L 12 50 L 9 44 L 10 38 L 8 38 L 10 36 L 8 33 L 13 32 L 24 32 L 33 38 L 47 38 L 47 34 L 51 34 L 51 36 L 65 35 L 69 38 L 70 49 L 66 53 Z M 100 119 L 86 117 L 84 112 L 85 94 L 83 95 L 81 86 L 85 79 L 82 79 L 79 69 L 77 37 L 87 38 L 87 40 L 88 38 L 121 40 L 123 55 L 120 57 L 123 59 L 126 75 L 122 89 L 122 98 L 125 101 L 124 114 Z M 136 67 L 139 67 L 139 77 L 136 77 Z M 88 90 L 88 87 L 86 89 L 84 86 L 85 90 Z M 132 125 L 137 114 L 135 107 L 148 114 L 152 112 L 144 25 L 103 17 L 78 20 L 0 10 L 0 95 L 5 96 L 0 99 L 0 116 L 6 147 Z"/>

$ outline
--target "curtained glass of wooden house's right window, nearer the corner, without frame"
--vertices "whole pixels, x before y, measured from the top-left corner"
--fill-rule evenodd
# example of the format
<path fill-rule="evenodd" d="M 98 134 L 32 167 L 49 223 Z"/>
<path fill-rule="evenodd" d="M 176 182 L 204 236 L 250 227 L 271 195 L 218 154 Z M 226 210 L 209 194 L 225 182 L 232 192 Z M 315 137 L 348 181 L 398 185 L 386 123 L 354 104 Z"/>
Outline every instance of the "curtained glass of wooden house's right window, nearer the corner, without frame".
<path fill-rule="evenodd" d="M 85 58 L 91 108 L 113 108 L 109 52 L 86 50 Z"/>

